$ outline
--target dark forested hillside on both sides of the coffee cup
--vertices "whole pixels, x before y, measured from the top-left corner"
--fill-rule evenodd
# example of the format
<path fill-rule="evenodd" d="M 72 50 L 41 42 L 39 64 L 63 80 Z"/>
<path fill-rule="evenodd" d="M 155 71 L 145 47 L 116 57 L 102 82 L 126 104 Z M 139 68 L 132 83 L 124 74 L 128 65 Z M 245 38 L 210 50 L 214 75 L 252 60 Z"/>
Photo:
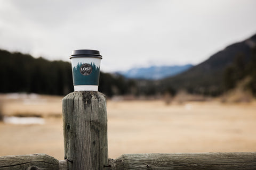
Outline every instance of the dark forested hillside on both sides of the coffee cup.
<path fill-rule="evenodd" d="M 29 54 L 0 49 L 0 93 L 27 92 L 67 95 L 74 91 L 71 63 L 49 61 Z M 124 95 L 136 88 L 133 80 L 100 72 L 99 91 L 107 96 Z"/>

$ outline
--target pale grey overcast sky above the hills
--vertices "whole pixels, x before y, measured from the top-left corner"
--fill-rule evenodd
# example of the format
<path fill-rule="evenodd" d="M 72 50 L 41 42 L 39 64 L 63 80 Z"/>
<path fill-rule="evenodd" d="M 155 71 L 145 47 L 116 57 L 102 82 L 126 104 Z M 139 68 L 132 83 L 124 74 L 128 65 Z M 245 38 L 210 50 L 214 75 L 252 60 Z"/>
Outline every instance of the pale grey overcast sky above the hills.
<path fill-rule="evenodd" d="M 69 61 L 99 50 L 105 72 L 198 64 L 256 33 L 256 1 L 0 0 L 0 48 Z"/>

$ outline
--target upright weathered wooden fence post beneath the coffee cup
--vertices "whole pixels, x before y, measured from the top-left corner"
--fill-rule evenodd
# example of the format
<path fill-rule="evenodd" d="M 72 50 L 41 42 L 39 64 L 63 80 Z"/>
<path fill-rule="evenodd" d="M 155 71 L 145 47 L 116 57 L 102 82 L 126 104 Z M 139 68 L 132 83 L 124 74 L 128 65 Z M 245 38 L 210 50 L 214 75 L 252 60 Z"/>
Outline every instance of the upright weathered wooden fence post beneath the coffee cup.
<path fill-rule="evenodd" d="M 69 170 L 107 169 L 106 97 L 75 91 L 62 99 L 65 159 Z"/>

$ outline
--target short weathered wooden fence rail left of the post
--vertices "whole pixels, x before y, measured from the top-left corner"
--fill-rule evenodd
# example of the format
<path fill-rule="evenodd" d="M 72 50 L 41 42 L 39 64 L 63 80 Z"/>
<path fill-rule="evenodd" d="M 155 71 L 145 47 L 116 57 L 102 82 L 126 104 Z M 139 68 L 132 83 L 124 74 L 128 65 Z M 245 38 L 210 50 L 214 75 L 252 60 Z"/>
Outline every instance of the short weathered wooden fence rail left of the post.
<path fill-rule="evenodd" d="M 59 160 L 46 154 L 2 156 L 0 157 L 0 170 L 7 170 L 7 169 L 10 169 L 10 170 L 11 169 L 12 170 L 22 170 L 22 169 L 67 170 L 65 168 L 59 168 Z"/>

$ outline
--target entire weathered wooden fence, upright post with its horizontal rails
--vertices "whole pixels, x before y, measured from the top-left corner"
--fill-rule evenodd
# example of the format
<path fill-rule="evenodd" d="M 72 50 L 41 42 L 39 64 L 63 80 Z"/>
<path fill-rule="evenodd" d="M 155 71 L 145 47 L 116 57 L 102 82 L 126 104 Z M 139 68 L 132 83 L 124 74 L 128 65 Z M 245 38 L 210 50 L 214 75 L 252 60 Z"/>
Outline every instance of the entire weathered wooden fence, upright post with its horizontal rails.
<path fill-rule="evenodd" d="M 72 92 L 62 100 L 65 160 L 45 154 L 0 157 L 4 169 L 256 169 L 256 152 L 124 154 L 108 159 L 106 98 Z"/>

